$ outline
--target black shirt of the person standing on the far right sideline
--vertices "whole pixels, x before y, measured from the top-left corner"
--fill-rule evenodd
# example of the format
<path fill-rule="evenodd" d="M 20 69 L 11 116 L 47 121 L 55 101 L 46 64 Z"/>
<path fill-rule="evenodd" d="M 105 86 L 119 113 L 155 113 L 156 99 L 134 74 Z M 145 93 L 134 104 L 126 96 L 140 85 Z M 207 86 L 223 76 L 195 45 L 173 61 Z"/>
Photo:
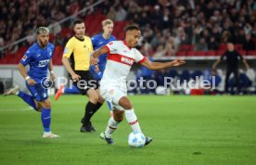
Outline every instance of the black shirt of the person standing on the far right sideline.
<path fill-rule="evenodd" d="M 224 55 L 221 57 L 221 60 L 226 62 L 227 69 L 238 69 L 239 60 L 243 60 L 244 58 L 236 51 L 226 51 Z"/>

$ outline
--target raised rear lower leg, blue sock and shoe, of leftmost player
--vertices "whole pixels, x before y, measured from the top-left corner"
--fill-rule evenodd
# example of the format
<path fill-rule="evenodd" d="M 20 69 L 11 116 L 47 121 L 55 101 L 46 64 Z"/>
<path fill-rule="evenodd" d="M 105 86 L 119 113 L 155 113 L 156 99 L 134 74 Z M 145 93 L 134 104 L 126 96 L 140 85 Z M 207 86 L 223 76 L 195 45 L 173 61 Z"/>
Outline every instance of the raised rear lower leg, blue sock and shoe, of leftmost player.
<path fill-rule="evenodd" d="M 30 105 L 33 109 L 38 110 L 34 102 L 34 97 L 32 95 L 28 95 L 26 93 L 23 93 L 22 91 L 19 91 L 19 86 L 15 86 L 14 88 L 8 90 L 4 95 L 18 95 L 24 102 Z"/>

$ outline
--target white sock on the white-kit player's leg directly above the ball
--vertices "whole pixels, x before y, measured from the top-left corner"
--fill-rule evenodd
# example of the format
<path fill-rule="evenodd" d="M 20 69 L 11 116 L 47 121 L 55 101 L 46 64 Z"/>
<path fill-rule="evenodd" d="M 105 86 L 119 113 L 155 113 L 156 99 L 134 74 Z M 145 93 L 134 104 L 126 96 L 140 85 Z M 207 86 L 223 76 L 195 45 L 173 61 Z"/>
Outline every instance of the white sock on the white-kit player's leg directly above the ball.
<path fill-rule="evenodd" d="M 140 132 L 141 133 L 141 129 L 137 120 L 137 117 L 134 113 L 134 108 L 129 109 L 129 110 L 125 110 L 125 118 L 128 121 L 128 123 L 131 125 L 132 129 L 134 132 Z"/>

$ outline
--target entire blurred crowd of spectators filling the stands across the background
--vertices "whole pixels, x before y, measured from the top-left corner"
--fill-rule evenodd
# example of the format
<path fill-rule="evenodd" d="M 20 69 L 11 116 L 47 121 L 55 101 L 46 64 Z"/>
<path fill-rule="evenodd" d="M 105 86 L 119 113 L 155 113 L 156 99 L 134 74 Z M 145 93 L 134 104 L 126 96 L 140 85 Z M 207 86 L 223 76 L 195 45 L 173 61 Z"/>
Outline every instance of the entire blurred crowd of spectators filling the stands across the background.
<path fill-rule="evenodd" d="M 5 0 L 0 3 L 0 47 L 30 36 L 36 27 L 58 22 L 95 2 Z M 244 50 L 256 49 L 253 0 L 105 0 L 84 14 L 97 9 L 109 19 L 138 24 L 143 34 L 142 45 L 150 56 L 174 56 L 181 44 L 192 44 L 195 51 L 208 51 L 232 41 L 242 44 Z M 62 44 L 58 42 L 61 26 L 53 29 L 57 36 L 55 44 Z M 27 44 L 30 42 L 32 39 L 28 38 Z"/>

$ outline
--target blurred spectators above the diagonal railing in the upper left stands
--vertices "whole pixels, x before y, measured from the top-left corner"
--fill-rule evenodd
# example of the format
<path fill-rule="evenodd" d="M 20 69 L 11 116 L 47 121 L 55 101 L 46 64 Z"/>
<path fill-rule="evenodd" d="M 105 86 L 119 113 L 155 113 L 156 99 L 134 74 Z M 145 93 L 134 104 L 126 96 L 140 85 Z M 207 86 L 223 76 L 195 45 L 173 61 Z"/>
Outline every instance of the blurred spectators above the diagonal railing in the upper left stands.
<path fill-rule="evenodd" d="M 91 6 L 96 0 L 11 0 L 0 3 L 0 47 L 12 44 L 19 39 L 28 37 L 22 44 L 32 44 L 32 33 L 39 26 L 48 26 L 57 23 L 75 14 L 85 6 Z M 88 14 L 93 12 L 88 10 Z M 65 24 L 64 24 L 65 26 Z M 69 26 L 69 24 L 66 26 Z M 61 27 L 55 26 L 52 30 L 55 36 L 61 31 Z M 9 51 L 15 53 L 18 47 L 9 47 Z"/>

